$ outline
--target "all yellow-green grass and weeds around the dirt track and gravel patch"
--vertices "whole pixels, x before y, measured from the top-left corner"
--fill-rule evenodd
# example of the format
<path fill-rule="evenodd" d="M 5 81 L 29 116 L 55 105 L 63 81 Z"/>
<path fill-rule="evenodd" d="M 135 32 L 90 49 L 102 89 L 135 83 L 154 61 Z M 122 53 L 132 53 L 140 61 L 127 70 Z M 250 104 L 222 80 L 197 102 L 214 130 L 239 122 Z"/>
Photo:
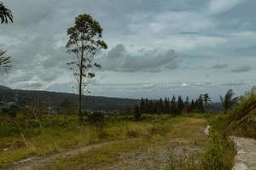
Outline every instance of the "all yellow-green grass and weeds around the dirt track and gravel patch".
<path fill-rule="evenodd" d="M 199 147 L 204 152 L 177 156 L 170 151 L 166 169 L 173 169 L 173 163 L 180 169 L 203 169 L 203 166 L 211 169 L 211 160 L 215 160 L 217 166 L 230 167 L 234 158 L 234 152 L 228 152 L 233 149 L 230 140 L 223 139 L 223 136 L 208 139 L 204 134 L 207 120 L 212 119 L 210 116 L 143 115 L 140 122 L 134 122 L 131 116 L 111 116 L 106 118 L 102 126 L 90 123 L 81 125 L 76 116 L 44 116 L 41 128 L 38 122 L 22 116 L 15 120 L 7 117 L 0 119 L 3 122 L 0 125 L 0 150 L 9 149 L 0 152 L 0 167 L 7 167 L 14 161 L 31 156 L 49 156 L 61 150 L 109 141 L 115 142 L 77 156 L 60 158 L 46 169 L 72 170 L 110 166 L 122 161 L 125 154 L 140 150 L 143 152 L 160 144 L 176 147 L 177 143 Z M 213 120 L 214 131 L 220 132 L 225 126 L 223 116 L 214 116 Z"/>

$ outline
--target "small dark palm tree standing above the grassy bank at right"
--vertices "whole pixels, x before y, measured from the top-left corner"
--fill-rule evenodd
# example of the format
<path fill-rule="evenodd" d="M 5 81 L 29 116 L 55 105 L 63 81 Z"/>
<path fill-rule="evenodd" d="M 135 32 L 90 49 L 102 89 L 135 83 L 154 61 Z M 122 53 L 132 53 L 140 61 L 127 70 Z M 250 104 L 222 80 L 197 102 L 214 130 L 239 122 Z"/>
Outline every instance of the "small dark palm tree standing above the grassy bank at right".
<path fill-rule="evenodd" d="M 220 100 L 221 100 L 222 106 L 224 107 L 225 112 L 233 108 L 238 102 L 239 98 L 236 97 L 233 99 L 233 95 L 234 93 L 232 89 L 228 90 L 228 92 L 224 95 L 224 97 L 220 95 Z"/>

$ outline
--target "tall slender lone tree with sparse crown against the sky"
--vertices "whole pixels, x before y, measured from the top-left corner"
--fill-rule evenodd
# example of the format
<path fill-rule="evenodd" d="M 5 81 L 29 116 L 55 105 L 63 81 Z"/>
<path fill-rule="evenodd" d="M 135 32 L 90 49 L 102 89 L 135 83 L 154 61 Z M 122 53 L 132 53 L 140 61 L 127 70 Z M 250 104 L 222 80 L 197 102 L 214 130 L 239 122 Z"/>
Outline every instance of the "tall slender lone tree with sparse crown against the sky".
<path fill-rule="evenodd" d="M 73 54 L 73 61 L 68 63 L 77 82 L 79 91 L 79 118 L 82 120 L 82 94 L 91 78 L 95 77 L 95 68 L 101 68 L 94 62 L 96 54 L 101 49 L 107 49 L 102 41 L 102 26 L 90 14 L 80 14 L 75 19 L 74 26 L 67 29 L 69 40 L 67 53 Z"/>

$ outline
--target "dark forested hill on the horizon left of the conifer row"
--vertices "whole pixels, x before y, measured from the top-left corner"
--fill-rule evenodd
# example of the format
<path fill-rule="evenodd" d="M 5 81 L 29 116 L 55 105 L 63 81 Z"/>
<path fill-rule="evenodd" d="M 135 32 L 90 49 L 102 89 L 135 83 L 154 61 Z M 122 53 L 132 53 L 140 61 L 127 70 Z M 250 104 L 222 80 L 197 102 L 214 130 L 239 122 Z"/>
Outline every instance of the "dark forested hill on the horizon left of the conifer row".
<path fill-rule="evenodd" d="M 39 101 L 40 105 L 60 106 L 65 99 L 70 105 L 77 105 L 78 95 L 67 93 L 56 93 L 47 91 L 31 91 L 31 90 L 14 90 L 11 88 L 0 86 L 0 100 L 5 102 L 14 101 L 16 98 L 19 105 L 29 105 L 34 101 Z M 133 107 L 138 104 L 138 99 L 119 99 L 97 96 L 83 96 L 84 109 L 93 110 L 122 110 L 126 107 Z"/>

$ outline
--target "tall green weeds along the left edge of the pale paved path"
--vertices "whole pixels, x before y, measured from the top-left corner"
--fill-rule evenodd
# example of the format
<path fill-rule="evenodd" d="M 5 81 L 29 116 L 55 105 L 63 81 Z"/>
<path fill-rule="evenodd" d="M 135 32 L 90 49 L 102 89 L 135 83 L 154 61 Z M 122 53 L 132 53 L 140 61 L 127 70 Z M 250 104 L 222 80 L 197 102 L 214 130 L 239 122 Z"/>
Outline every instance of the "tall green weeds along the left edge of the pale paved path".
<path fill-rule="evenodd" d="M 213 133 L 202 155 L 171 150 L 166 170 L 231 170 L 235 156 L 232 140 L 224 133 Z"/>

